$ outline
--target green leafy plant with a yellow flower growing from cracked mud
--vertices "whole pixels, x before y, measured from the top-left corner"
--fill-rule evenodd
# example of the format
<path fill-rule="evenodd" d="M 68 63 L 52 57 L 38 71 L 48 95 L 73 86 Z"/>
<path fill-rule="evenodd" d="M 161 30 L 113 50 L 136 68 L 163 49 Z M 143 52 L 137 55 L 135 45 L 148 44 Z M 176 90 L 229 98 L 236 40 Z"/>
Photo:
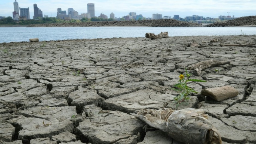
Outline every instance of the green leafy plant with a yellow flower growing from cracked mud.
<path fill-rule="evenodd" d="M 181 92 L 180 94 L 178 94 L 178 96 L 174 97 L 174 100 L 177 103 L 176 107 L 178 107 L 178 105 L 182 102 L 187 102 L 187 100 L 190 99 L 190 96 L 192 93 L 198 93 L 193 88 L 190 88 L 188 86 L 188 82 L 190 82 L 190 81 L 206 82 L 206 81 L 199 80 L 199 79 L 189 79 L 191 74 L 187 72 L 186 68 L 185 68 L 185 75 L 187 76 L 186 78 L 184 75 L 180 74 L 179 75 L 179 83 L 175 84 L 173 86 L 173 87 L 176 87 L 176 88 L 174 88 L 174 90 Z"/>

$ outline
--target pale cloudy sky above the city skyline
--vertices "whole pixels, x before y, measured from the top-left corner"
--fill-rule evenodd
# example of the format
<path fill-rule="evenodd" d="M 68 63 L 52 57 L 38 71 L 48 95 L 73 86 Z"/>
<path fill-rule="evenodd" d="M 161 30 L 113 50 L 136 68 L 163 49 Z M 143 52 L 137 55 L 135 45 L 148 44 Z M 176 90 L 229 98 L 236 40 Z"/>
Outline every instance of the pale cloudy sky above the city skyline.
<path fill-rule="evenodd" d="M 14 11 L 14 0 L 1 0 L 0 16 L 11 16 Z M 30 18 L 33 18 L 33 4 L 43 11 L 43 16 L 56 17 L 57 8 L 68 10 L 74 8 L 79 14 L 87 13 L 87 3 L 95 4 L 95 16 L 103 13 L 109 17 L 113 12 L 115 17 L 123 17 L 129 12 L 142 14 L 144 17 L 152 17 L 152 14 L 159 13 L 163 16 L 199 15 L 203 17 L 218 16 L 255 16 L 256 0 L 17 0 L 19 7 L 28 8 Z"/>

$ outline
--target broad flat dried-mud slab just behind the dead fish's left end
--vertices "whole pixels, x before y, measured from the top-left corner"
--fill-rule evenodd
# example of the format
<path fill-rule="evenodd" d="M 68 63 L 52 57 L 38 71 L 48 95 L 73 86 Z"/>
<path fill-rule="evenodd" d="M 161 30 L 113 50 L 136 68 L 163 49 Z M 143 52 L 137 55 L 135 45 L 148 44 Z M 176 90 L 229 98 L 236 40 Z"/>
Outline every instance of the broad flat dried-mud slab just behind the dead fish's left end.
<path fill-rule="evenodd" d="M 173 95 L 162 94 L 154 90 L 139 90 L 131 94 L 106 99 L 102 106 L 106 109 L 134 113 L 134 111 L 145 108 L 163 108 L 164 104 L 173 100 Z"/>

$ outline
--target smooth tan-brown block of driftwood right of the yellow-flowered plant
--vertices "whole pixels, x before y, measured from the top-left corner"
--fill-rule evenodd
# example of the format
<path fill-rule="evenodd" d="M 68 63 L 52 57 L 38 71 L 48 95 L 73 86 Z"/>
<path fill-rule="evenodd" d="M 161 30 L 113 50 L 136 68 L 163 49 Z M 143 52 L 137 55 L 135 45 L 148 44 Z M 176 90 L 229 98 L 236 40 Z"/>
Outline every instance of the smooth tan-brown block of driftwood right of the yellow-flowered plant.
<path fill-rule="evenodd" d="M 233 87 L 225 85 L 223 87 L 207 88 L 201 91 L 202 95 L 209 96 L 214 100 L 223 101 L 225 99 L 235 97 L 239 91 Z"/>

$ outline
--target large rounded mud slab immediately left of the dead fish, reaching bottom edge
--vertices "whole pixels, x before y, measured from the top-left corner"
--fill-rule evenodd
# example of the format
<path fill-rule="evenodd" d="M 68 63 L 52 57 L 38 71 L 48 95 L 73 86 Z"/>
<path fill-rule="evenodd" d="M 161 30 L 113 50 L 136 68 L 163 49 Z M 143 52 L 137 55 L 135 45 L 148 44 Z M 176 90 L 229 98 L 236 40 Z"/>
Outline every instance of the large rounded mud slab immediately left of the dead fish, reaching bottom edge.
<path fill-rule="evenodd" d="M 142 130 L 144 124 L 132 115 L 118 111 L 103 111 L 105 117 L 85 119 L 79 123 L 77 132 L 91 143 L 110 144 L 128 139 Z"/>

